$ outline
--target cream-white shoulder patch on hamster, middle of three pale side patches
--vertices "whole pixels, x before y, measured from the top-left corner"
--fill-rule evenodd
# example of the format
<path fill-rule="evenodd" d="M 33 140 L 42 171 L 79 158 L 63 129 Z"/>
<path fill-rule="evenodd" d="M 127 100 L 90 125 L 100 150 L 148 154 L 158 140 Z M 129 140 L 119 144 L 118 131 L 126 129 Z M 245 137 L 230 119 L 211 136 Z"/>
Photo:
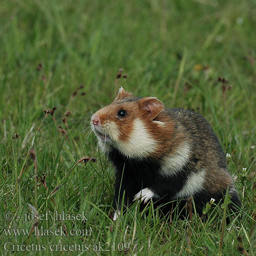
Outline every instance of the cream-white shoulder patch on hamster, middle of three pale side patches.
<path fill-rule="evenodd" d="M 189 155 L 189 145 L 181 145 L 172 156 L 168 156 L 163 159 L 161 174 L 169 176 L 178 173 L 189 161 Z"/>

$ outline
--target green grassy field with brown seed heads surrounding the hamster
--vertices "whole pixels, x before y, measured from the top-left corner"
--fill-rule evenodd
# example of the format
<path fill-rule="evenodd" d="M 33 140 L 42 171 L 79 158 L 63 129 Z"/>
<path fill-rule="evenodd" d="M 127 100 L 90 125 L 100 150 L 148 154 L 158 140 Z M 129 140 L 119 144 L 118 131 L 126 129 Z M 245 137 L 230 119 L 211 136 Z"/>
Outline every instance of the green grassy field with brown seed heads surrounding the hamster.
<path fill-rule="evenodd" d="M 2 1 L 1 255 L 255 254 L 255 27 L 253 0 Z M 116 80 L 119 68 L 127 78 Z M 151 204 L 144 216 L 137 203 L 111 220 L 114 170 L 89 120 L 120 86 L 210 122 L 238 218 L 223 226 L 226 200 L 204 222 L 162 219 Z M 97 162 L 76 165 L 82 156 Z"/>

